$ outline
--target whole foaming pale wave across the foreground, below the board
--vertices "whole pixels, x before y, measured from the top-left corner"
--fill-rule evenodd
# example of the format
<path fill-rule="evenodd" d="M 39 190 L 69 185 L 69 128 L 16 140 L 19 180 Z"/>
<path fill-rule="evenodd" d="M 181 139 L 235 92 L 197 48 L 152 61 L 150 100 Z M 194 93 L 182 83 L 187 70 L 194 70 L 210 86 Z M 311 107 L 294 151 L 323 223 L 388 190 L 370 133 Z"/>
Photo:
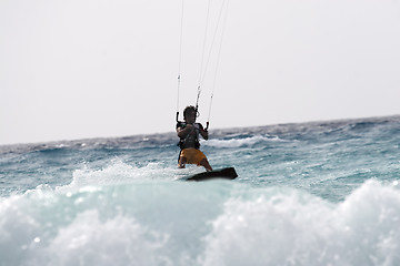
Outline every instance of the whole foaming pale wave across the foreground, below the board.
<path fill-rule="evenodd" d="M 376 181 L 338 204 L 232 182 L 37 191 L 0 201 L 0 265 L 400 263 L 400 192 Z"/>

